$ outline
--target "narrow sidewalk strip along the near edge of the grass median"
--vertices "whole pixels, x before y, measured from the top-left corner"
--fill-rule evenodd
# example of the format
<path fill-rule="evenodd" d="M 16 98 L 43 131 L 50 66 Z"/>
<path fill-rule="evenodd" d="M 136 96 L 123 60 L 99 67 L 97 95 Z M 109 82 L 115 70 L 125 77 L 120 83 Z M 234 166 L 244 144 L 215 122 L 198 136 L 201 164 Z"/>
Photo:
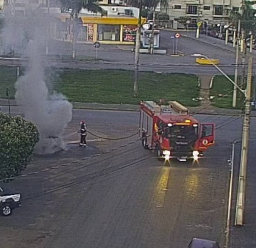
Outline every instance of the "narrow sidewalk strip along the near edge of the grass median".
<path fill-rule="evenodd" d="M 74 109 L 98 109 L 98 110 L 116 110 L 116 111 L 139 111 L 139 105 L 134 104 L 101 104 L 101 103 L 82 103 L 73 102 Z M 0 99 L 0 106 L 7 106 L 7 99 Z M 17 106 L 16 101 L 10 100 L 11 106 Z M 207 114 L 207 115 L 240 115 L 241 110 L 239 109 L 227 109 L 227 108 L 216 108 L 214 106 L 209 106 L 208 108 L 199 107 L 189 107 L 192 114 Z M 252 117 L 256 117 L 256 111 L 251 112 Z"/>

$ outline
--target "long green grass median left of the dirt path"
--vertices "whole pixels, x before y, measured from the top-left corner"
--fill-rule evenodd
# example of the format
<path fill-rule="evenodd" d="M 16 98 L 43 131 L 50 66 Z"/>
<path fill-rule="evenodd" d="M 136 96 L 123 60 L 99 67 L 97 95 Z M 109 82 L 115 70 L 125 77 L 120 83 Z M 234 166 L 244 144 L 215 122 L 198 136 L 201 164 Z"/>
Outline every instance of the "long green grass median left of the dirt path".
<path fill-rule="evenodd" d="M 0 74 L 3 70 L 0 70 Z M 126 70 L 54 69 L 53 89 L 72 102 L 139 104 L 140 100 L 177 100 L 185 106 L 198 106 L 192 101 L 199 97 L 197 77 L 188 74 L 163 74 L 140 72 L 139 94 L 133 97 L 134 72 Z M 14 75 L 13 75 L 14 74 Z M 4 75 L 0 75 L 3 78 Z M 15 73 L 1 80 L 0 97 L 5 98 L 5 88 L 11 88 L 14 97 Z"/>

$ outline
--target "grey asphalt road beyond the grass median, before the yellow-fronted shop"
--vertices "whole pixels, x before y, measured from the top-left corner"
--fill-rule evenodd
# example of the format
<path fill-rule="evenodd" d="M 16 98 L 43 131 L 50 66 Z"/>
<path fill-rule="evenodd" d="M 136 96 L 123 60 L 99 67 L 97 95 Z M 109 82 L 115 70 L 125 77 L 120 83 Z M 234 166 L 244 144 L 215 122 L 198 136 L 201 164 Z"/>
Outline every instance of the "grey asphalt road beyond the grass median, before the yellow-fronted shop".
<path fill-rule="evenodd" d="M 217 47 L 206 45 L 200 41 L 188 39 L 186 37 L 179 38 L 178 50 L 184 56 L 171 57 L 172 40 L 170 36 L 174 32 L 161 30 L 160 46 L 168 50 L 169 55 L 148 55 L 140 54 L 140 71 L 156 71 L 169 73 L 193 73 L 193 74 L 219 74 L 218 70 L 213 66 L 200 66 L 195 63 L 195 57 L 191 54 L 201 53 L 210 58 L 219 58 L 221 61 L 220 68 L 227 74 L 234 74 L 235 56 L 228 51 L 220 51 Z M 62 41 L 52 41 L 50 47 L 50 55 L 70 55 L 72 54 L 72 44 Z M 121 49 L 119 49 L 121 48 Z M 65 60 L 45 61 L 45 65 L 61 67 L 61 68 L 81 68 L 81 69 L 134 69 L 134 52 L 131 52 L 132 46 L 115 46 L 101 45 L 98 50 L 98 58 L 103 61 L 86 61 L 80 60 L 76 62 Z M 44 51 L 42 50 L 42 53 Z M 92 44 L 78 44 L 77 55 L 95 58 L 96 50 Z M 0 61 L 2 64 L 13 64 L 13 62 Z"/>

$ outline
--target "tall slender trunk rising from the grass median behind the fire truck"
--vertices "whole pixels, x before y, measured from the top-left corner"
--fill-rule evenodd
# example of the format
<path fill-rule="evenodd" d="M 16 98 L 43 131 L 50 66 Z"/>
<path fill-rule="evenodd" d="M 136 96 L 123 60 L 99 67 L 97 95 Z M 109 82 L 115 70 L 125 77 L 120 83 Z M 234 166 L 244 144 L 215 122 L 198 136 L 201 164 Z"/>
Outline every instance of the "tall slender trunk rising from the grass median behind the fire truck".
<path fill-rule="evenodd" d="M 138 78 L 139 78 L 139 54 L 140 54 L 140 35 L 141 35 L 141 11 L 142 11 L 142 0 L 139 2 L 139 18 L 136 31 L 135 41 L 135 57 L 134 57 L 134 84 L 133 92 L 134 97 L 138 96 Z"/>

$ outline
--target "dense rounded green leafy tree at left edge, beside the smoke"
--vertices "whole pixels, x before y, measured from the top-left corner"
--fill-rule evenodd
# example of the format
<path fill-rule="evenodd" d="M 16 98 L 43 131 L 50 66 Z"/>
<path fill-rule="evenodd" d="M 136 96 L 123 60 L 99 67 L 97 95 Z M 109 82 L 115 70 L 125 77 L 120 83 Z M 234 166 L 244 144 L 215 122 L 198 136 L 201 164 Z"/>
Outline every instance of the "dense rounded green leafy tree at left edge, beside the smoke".
<path fill-rule="evenodd" d="M 0 180 L 26 169 L 38 141 L 39 132 L 33 123 L 0 112 Z"/>

